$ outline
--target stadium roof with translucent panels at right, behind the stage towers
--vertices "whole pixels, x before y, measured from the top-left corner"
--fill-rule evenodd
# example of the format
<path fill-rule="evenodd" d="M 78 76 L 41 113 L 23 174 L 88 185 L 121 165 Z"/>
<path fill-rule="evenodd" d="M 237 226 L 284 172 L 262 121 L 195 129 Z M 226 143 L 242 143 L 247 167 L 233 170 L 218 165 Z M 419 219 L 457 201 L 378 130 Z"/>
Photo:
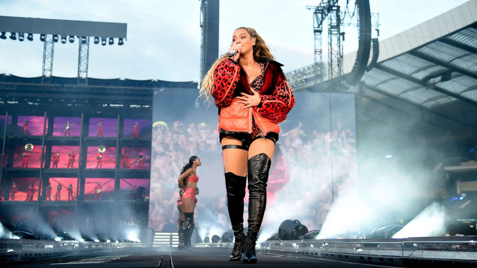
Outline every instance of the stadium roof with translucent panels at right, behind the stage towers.
<path fill-rule="evenodd" d="M 343 73 L 351 72 L 355 58 L 356 52 L 343 56 Z M 287 78 L 295 91 L 322 92 L 327 84 L 312 77 L 310 66 Z M 361 82 L 373 100 L 399 99 L 425 109 L 463 105 L 477 112 L 477 0 L 379 41 L 378 62 Z"/>

